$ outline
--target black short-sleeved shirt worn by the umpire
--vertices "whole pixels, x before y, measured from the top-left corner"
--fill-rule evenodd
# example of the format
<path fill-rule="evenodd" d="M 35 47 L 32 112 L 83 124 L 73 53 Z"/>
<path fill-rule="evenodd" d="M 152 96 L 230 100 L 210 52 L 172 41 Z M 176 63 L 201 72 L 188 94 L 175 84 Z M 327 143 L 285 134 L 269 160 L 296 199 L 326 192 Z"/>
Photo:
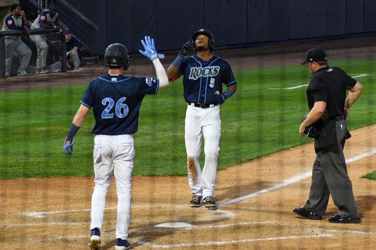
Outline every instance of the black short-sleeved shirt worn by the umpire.
<path fill-rule="evenodd" d="M 343 114 L 346 90 L 353 88 L 356 80 L 348 76 L 339 67 L 323 67 L 311 77 L 306 91 L 309 111 L 315 102 L 326 102 L 323 118 L 333 119 Z"/>

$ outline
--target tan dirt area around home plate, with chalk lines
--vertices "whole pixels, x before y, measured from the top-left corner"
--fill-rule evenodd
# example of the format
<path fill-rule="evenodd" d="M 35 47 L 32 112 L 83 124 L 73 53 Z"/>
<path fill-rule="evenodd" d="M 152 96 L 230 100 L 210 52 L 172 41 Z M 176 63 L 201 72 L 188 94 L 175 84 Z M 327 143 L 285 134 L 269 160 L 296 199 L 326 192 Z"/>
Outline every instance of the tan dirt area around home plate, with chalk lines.
<path fill-rule="evenodd" d="M 376 125 L 352 132 L 345 156 L 361 224 L 292 213 L 308 198 L 313 145 L 218 172 L 218 210 L 191 208 L 186 177 L 133 177 L 129 241 L 134 249 L 373 249 L 376 181 L 359 176 L 376 163 Z M 0 181 L 1 249 L 88 249 L 92 177 Z M 106 199 L 103 249 L 115 244 L 114 179 Z M 185 228 L 156 227 L 182 222 Z"/>

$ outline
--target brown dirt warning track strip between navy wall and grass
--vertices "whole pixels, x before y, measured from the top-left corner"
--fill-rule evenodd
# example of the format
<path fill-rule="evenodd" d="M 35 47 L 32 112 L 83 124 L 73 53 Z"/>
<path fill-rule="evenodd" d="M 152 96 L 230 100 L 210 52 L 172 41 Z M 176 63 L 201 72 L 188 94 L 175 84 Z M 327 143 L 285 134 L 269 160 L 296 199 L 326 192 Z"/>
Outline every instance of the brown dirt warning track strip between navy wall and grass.
<path fill-rule="evenodd" d="M 250 69 L 255 67 L 286 66 L 299 64 L 305 58 L 308 49 L 325 49 L 330 60 L 373 57 L 376 54 L 376 35 L 351 37 L 304 43 L 288 43 L 237 49 L 214 50 L 214 54 L 227 60 L 232 69 Z M 166 55 L 162 64 L 167 67 L 174 61 L 177 53 Z M 0 92 L 32 90 L 38 88 L 88 84 L 91 79 L 107 73 L 106 67 L 99 64 L 86 64 L 79 70 L 47 75 L 32 75 L 0 79 Z M 155 76 L 155 69 L 149 59 L 132 57 L 127 76 Z"/>

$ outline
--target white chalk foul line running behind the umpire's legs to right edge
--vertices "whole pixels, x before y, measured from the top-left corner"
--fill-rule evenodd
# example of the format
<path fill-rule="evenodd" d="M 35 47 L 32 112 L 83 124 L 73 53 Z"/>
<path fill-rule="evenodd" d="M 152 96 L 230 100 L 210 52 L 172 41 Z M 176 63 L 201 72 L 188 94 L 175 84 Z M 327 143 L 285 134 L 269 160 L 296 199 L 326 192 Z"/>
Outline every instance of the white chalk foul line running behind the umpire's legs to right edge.
<path fill-rule="evenodd" d="M 351 157 L 350 159 L 346 160 L 346 163 L 354 162 L 356 160 L 360 160 L 360 159 L 362 159 L 364 157 L 372 156 L 374 154 L 376 154 L 376 149 L 368 151 L 368 152 L 365 152 L 365 153 L 362 153 L 362 154 L 358 154 L 357 156 L 354 156 L 354 157 Z M 305 178 L 308 178 L 310 176 L 312 176 L 312 171 L 308 171 L 308 172 L 305 172 L 303 174 L 296 175 L 294 177 L 291 177 L 291 178 L 288 178 L 288 179 L 282 181 L 279 184 L 276 184 L 274 186 L 268 187 L 266 189 L 262 189 L 260 191 L 255 192 L 255 193 L 250 193 L 249 195 L 244 195 L 244 196 L 241 196 L 241 197 L 229 200 L 229 201 L 218 203 L 218 207 L 230 205 L 230 204 L 233 204 L 233 203 L 237 203 L 237 202 L 243 201 L 245 199 L 249 199 L 249 198 L 255 197 L 257 195 L 262 195 L 263 193 L 268 193 L 270 191 L 279 189 L 281 187 L 285 187 L 285 186 L 287 186 L 289 184 L 296 183 L 297 181 L 304 180 Z"/>

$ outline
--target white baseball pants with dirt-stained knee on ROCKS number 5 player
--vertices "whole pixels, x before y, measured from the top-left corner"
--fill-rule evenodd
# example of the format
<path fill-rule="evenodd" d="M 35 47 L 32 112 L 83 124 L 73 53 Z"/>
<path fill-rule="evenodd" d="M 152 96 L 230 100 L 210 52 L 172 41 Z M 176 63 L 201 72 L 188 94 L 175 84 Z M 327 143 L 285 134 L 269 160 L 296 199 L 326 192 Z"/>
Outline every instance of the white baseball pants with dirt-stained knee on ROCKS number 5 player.
<path fill-rule="evenodd" d="M 185 148 L 192 195 L 202 196 L 203 199 L 213 196 L 217 181 L 220 137 L 220 107 L 204 109 L 188 105 L 185 115 Z M 199 156 L 202 138 L 205 141 L 205 165 L 201 172 Z"/>

